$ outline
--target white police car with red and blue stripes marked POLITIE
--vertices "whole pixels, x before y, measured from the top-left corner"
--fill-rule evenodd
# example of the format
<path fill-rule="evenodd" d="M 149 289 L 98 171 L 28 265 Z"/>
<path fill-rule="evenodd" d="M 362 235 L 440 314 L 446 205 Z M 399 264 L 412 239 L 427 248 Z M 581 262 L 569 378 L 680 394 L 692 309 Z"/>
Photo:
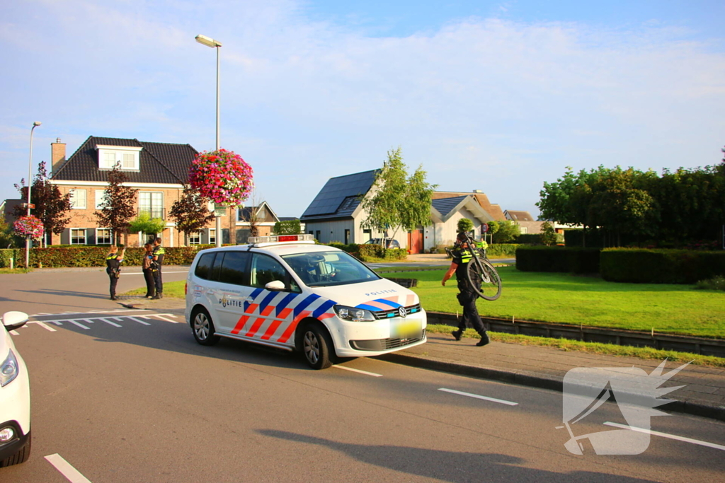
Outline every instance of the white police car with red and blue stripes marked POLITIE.
<path fill-rule="evenodd" d="M 298 350 L 313 369 L 426 342 L 418 295 L 312 235 L 249 238 L 196 254 L 186 280 L 196 342 Z"/>

